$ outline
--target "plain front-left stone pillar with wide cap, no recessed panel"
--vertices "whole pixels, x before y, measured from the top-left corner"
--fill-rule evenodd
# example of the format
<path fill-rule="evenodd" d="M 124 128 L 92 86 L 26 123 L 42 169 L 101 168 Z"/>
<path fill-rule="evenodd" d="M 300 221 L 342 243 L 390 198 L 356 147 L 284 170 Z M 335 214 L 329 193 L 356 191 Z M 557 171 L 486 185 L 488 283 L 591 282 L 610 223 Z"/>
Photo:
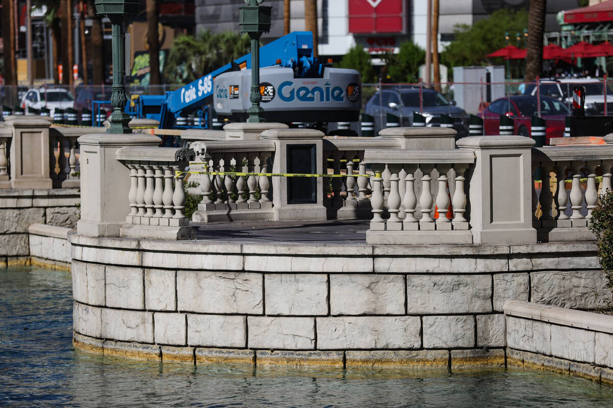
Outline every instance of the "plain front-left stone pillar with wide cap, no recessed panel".
<path fill-rule="evenodd" d="M 78 138 L 81 155 L 80 235 L 118 237 L 129 212 L 130 170 L 115 158 L 124 146 L 159 146 L 157 136 L 83 135 Z"/>

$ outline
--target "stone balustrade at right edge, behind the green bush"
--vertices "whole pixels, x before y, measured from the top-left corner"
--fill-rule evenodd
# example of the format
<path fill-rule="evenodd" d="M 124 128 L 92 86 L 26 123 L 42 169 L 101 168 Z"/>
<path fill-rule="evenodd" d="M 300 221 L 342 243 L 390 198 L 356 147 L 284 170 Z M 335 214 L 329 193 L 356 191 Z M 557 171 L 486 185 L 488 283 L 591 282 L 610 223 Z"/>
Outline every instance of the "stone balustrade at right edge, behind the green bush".
<path fill-rule="evenodd" d="M 542 186 L 532 191 L 533 226 L 540 241 L 595 239 L 587 226 L 598 205 L 596 175 L 602 176 L 600 190 L 611 190 L 612 166 L 611 145 L 533 149 L 533 179 Z M 581 179 L 587 179 L 584 191 Z"/>

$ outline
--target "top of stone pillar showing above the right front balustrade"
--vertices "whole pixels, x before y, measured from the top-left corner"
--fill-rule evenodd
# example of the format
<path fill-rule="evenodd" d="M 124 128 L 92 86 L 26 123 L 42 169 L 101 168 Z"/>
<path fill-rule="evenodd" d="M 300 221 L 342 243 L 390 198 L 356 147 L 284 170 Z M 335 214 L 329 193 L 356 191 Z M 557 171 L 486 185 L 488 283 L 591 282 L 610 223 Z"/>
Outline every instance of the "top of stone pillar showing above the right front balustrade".
<path fill-rule="evenodd" d="M 455 149 L 456 134 L 444 127 L 394 127 L 379 132 L 382 138 L 398 139 L 400 149 Z"/>

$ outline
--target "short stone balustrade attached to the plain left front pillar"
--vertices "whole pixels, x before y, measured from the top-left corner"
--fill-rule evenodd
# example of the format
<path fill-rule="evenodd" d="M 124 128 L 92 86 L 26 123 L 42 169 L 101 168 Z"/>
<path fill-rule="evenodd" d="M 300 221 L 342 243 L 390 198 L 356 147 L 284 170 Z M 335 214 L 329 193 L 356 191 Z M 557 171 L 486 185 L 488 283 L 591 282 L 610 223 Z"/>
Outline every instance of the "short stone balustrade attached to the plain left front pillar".
<path fill-rule="evenodd" d="M 191 149 L 128 146 L 116 158 L 130 170 L 130 212 L 121 226 L 121 237 L 193 239 L 194 230 L 185 217 L 183 179 Z"/>

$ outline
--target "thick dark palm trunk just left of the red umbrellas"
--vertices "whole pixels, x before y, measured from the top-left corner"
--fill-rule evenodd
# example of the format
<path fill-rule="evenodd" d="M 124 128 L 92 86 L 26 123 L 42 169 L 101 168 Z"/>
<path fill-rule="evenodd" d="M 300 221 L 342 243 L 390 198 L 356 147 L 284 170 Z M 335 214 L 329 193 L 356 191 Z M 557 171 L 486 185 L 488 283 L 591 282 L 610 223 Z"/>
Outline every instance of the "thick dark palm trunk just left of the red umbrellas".
<path fill-rule="evenodd" d="M 547 0 L 530 0 L 528 15 L 528 45 L 526 51 L 526 78 L 536 80 L 543 70 L 543 32 Z"/>

